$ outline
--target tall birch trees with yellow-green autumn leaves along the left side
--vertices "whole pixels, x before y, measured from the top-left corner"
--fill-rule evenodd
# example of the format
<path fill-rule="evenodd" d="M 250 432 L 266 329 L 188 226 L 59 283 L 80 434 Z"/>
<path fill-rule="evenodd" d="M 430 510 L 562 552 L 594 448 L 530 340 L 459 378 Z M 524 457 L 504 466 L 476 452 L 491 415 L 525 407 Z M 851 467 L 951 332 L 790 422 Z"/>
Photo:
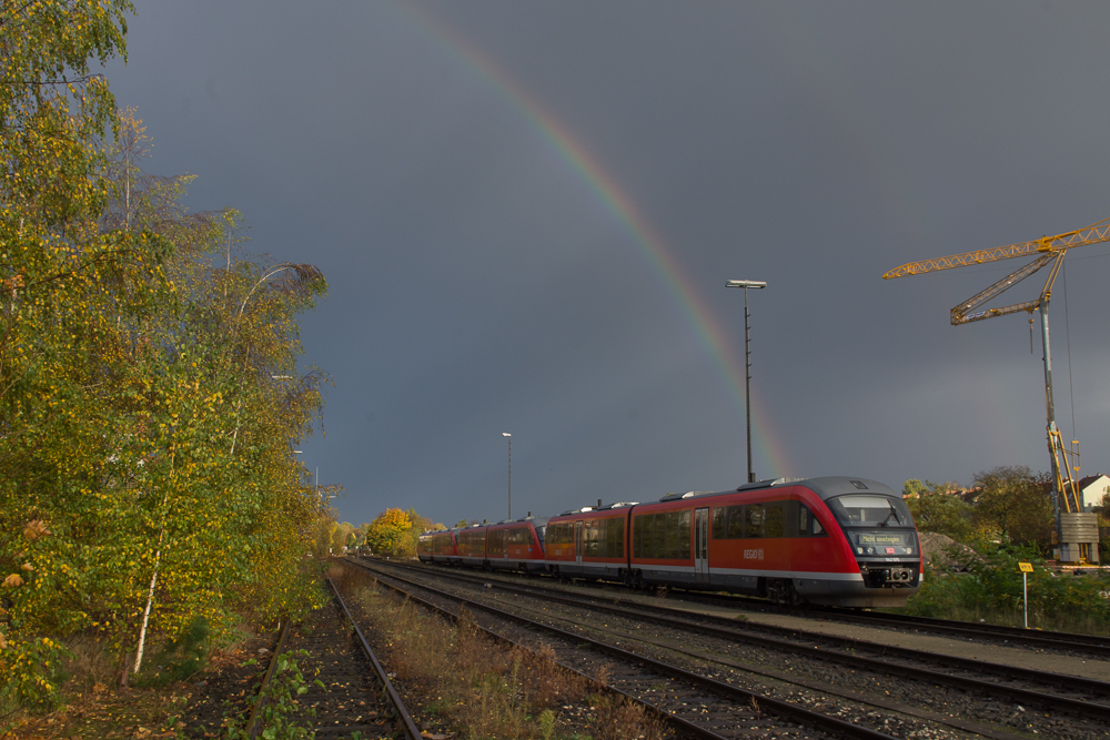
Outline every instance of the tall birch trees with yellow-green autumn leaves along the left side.
<path fill-rule="evenodd" d="M 322 604 L 291 444 L 322 407 L 297 317 L 326 284 L 233 254 L 234 212 L 142 171 L 141 122 L 89 74 L 130 10 L 0 10 L 0 699 L 27 706 L 53 638 L 99 636 L 127 680 L 151 632 Z"/>

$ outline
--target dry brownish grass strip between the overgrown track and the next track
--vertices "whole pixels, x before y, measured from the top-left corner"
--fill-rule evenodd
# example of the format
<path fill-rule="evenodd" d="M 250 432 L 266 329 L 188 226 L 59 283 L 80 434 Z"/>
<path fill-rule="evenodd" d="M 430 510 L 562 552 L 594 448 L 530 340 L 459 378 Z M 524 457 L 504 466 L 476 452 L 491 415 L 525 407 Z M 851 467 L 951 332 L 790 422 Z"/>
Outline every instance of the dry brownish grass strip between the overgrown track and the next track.
<path fill-rule="evenodd" d="M 425 687 L 425 693 L 436 699 L 426 709 L 461 737 L 655 740 L 663 736 L 662 726 L 645 717 L 639 704 L 604 690 L 606 670 L 588 681 L 557 665 L 551 646 L 538 651 L 506 649 L 486 637 L 465 609 L 452 626 L 379 591 L 366 571 L 353 567 L 344 571 L 336 585 L 354 597 L 390 645 L 384 659 L 389 670 L 410 686 Z M 562 717 L 565 707 L 584 701 L 589 707 L 586 722 Z M 578 734 L 565 734 L 568 730 Z"/>

